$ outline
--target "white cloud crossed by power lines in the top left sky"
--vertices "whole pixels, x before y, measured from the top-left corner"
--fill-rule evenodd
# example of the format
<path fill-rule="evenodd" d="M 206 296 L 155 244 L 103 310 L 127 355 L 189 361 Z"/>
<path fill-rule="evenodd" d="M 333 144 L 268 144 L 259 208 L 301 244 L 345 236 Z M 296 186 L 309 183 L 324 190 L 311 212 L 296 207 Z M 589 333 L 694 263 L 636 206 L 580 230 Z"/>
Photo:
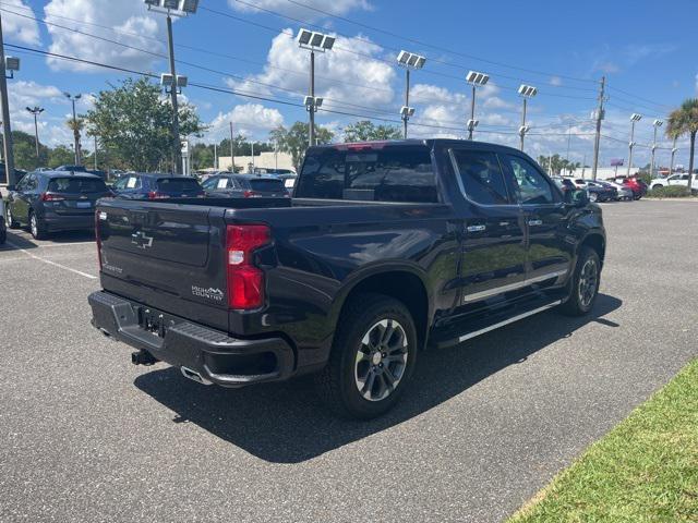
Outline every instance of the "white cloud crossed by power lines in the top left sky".
<path fill-rule="evenodd" d="M 65 27 L 79 28 L 83 33 L 104 36 L 129 46 L 164 53 L 165 46 L 153 38 L 164 38 L 164 21 L 148 14 L 142 0 L 119 0 L 118 2 L 95 2 L 92 0 L 51 0 L 45 8 L 46 20 Z M 82 23 L 108 26 L 118 34 L 96 26 L 85 26 L 65 21 L 59 16 L 71 13 L 71 17 Z M 59 54 L 77 56 L 97 62 L 122 68 L 147 70 L 159 58 L 123 46 L 98 40 L 84 34 L 47 26 L 51 36 L 49 50 Z M 69 62 L 55 58 L 47 59 L 53 70 L 103 72 L 88 64 Z"/>

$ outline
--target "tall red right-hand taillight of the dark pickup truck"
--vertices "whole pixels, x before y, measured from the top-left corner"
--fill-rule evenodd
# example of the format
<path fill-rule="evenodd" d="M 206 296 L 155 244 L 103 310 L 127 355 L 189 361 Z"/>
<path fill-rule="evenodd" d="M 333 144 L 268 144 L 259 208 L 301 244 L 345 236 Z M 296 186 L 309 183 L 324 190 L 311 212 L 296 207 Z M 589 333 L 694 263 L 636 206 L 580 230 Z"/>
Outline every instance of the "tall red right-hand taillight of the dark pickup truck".
<path fill-rule="evenodd" d="M 264 304 L 264 271 L 254 265 L 254 251 L 267 245 L 269 228 L 262 224 L 228 226 L 226 263 L 228 266 L 228 305 L 249 311 Z"/>

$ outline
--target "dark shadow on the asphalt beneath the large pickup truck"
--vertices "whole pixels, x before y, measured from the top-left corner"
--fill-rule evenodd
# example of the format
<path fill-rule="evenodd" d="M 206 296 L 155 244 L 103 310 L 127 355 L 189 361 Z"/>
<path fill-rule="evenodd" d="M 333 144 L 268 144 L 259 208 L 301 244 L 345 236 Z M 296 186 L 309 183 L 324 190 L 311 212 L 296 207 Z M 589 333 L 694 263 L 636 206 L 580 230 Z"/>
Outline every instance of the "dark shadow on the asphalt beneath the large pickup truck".
<path fill-rule="evenodd" d="M 402 401 L 370 422 L 335 417 L 320 403 L 309 378 L 224 389 L 190 381 L 179 369 L 168 367 L 144 374 L 134 384 L 176 412 L 174 423 L 195 423 L 273 463 L 299 463 L 418 416 L 488 376 L 574 336 L 589 323 L 617 328 L 603 316 L 622 303 L 599 294 L 592 313 L 586 317 L 542 313 L 452 349 L 425 351 L 420 354 L 412 387 Z"/>

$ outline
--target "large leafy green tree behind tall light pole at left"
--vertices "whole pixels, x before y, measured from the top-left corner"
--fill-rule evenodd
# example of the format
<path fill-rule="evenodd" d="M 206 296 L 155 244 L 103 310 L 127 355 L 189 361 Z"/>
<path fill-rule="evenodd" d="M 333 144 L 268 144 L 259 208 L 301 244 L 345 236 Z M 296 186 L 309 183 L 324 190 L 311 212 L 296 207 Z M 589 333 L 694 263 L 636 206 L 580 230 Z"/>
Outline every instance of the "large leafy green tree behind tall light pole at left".
<path fill-rule="evenodd" d="M 115 163 L 136 171 L 171 166 L 172 106 L 160 88 L 147 78 L 125 80 L 120 86 L 101 90 L 94 109 L 84 117 Z M 179 106 L 180 138 L 201 136 L 205 126 L 189 104 Z"/>

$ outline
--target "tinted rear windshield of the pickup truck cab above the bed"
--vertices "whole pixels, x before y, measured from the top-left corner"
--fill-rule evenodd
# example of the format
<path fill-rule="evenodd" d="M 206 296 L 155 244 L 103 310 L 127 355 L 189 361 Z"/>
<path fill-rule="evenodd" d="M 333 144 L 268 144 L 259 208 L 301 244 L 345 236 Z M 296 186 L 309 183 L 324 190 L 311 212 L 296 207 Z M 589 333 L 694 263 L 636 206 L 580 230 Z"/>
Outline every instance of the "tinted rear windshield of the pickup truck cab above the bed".
<path fill-rule="evenodd" d="M 436 203 L 436 178 L 424 146 L 321 149 L 305 158 L 296 196 L 363 202 Z"/>

